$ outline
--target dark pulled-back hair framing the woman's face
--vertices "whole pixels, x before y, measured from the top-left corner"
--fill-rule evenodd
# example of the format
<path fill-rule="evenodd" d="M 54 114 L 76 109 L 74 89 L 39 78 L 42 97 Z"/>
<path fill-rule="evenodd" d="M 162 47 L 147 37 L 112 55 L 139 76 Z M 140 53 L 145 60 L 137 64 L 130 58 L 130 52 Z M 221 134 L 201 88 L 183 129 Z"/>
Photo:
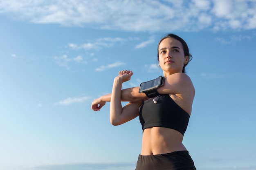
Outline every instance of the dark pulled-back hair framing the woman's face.
<path fill-rule="evenodd" d="M 188 47 L 188 45 L 186 44 L 186 42 L 185 42 L 182 38 L 180 38 L 178 35 L 175 35 L 175 34 L 167 34 L 166 36 L 164 36 L 164 37 L 159 41 L 158 46 L 157 46 L 157 61 L 158 61 L 158 62 L 159 62 L 159 51 L 158 51 L 159 44 L 160 44 L 164 39 L 166 39 L 166 38 L 174 38 L 175 40 L 180 41 L 181 44 L 182 44 L 182 47 L 183 47 L 184 57 L 185 57 L 185 56 L 189 56 L 189 62 L 192 60 L 193 57 L 192 57 L 192 55 L 189 53 L 189 47 Z M 183 68 L 182 68 L 182 73 L 186 73 L 185 67 L 186 67 L 186 65 L 189 64 L 189 62 L 186 63 L 186 64 L 184 64 L 184 66 L 183 66 Z"/>

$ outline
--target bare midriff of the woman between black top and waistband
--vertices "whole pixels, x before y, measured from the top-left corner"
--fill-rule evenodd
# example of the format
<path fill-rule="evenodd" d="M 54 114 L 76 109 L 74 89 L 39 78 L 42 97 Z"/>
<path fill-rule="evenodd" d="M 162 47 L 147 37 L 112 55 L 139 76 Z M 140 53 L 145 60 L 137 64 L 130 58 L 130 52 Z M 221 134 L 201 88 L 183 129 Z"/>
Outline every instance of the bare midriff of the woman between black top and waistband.
<path fill-rule="evenodd" d="M 183 135 L 177 130 L 163 127 L 147 128 L 142 136 L 141 155 L 158 155 L 186 150 Z"/>

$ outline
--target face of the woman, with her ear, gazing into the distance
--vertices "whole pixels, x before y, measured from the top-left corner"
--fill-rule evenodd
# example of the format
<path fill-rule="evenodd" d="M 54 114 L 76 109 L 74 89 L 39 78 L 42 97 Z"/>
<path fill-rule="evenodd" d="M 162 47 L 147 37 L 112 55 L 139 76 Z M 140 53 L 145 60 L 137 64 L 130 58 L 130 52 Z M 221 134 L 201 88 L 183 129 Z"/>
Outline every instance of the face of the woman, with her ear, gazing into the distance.
<path fill-rule="evenodd" d="M 174 38 L 162 40 L 158 52 L 159 66 L 164 72 L 164 77 L 173 73 L 182 73 L 184 64 L 189 61 L 189 56 L 184 56 L 181 42 Z"/>

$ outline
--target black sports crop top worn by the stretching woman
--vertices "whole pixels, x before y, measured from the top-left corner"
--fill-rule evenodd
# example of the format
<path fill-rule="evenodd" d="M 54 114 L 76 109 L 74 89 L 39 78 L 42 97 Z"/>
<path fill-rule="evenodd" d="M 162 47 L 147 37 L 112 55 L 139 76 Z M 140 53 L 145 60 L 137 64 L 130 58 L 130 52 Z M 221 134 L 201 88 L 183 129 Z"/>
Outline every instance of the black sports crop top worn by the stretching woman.
<path fill-rule="evenodd" d="M 189 114 L 168 94 L 150 98 L 139 108 L 139 121 L 143 131 L 146 128 L 164 127 L 177 130 L 184 135 L 189 117 Z"/>

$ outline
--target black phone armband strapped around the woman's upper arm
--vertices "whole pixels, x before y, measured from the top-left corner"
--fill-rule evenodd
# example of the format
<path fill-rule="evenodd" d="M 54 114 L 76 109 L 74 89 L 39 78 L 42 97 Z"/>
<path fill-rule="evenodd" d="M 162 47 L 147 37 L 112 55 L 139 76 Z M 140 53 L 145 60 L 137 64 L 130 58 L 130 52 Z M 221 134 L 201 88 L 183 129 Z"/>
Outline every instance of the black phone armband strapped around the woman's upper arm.
<path fill-rule="evenodd" d="M 163 84 L 164 77 L 159 76 L 156 79 L 141 83 L 139 86 L 139 93 L 145 93 L 149 98 L 156 97 L 160 95 L 157 92 L 157 88 Z"/>

